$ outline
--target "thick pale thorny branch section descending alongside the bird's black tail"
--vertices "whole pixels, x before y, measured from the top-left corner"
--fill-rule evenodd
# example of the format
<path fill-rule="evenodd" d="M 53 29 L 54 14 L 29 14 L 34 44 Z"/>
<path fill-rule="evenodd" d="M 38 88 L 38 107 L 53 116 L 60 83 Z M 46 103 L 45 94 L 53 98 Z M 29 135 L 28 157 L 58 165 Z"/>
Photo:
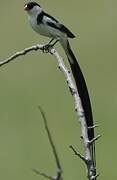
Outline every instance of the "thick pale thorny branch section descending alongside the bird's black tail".
<path fill-rule="evenodd" d="M 86 159 L 85 162 L 86 162 L 87 170 L 88 170 L 88 179 L 91 180 L 92 177 L 93 178 L 95 177 L 96 170 L 95 170 L 93 159 L 91 156 L 91 148 L 87 143 L 87 142 L 89 142 L 88 133 L 87 133 L 88 127 L 86 124 L 86 119 L 85 119 L 85 115 L 84 115 L 84 109 L 82 107 L 82 102 L 81 102 L 81 99 L 79 97 L 77 88 L 74 84 L 74 81 L 72 79 L 72 76 L 70 74 L 70 71 L 66 68 L 62 57 L 53 48 L 51 49 L 51 54 L 53 54 L 55 56 L 55 59 L 57 60 L 59 69 L 65 75 L 68 87 L 69 87 L 70 92 L 74 98 L 75 111 L 76 111 L 77 115 L 79 116 L 79 121 L 81 124 L 81 131 L 82 131 L 82 139 L 83 139 L 84 147 L 85 147 L 85 159 Z M 74 151 L 74 152 L 84 161 L 84 158 L 80 153 L 77 153 L 76 151 Z"/>

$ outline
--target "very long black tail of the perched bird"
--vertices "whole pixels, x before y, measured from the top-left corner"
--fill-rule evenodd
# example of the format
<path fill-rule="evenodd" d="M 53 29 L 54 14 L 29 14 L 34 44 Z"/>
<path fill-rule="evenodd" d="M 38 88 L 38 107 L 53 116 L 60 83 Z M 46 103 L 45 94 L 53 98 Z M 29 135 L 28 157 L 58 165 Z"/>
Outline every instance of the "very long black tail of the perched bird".
<path fill-rule="evenodd" d="M 65 42 L 61 42 L 61 45 L 63 46 L 67 58 L 69 60 L 69 64 L 73 73 L 73 77 L 76 82 L 77 90 L 79 93 L 79 96 L 81 98 L 82 106 L 85 113 L 86 123 L 88 127 L 92 127 L 93 124 L 93 115 L 92 115 L 92 108 L 89 98 L 89 93 L 87 89 L 87 85 L 83 76 L 83 73 L 80 69 L 80 66 L 71 50 L 70 44 L 67 40 L 66 45 Z M 88 138 L 89 140 L 92 140 L 94 138 L 94 128 L 88 129 Z M 94 167 L 96 166 L 96 157 L 95 157 L 95 143 L 91 146 L 91 156 L 94 163 Z"/>

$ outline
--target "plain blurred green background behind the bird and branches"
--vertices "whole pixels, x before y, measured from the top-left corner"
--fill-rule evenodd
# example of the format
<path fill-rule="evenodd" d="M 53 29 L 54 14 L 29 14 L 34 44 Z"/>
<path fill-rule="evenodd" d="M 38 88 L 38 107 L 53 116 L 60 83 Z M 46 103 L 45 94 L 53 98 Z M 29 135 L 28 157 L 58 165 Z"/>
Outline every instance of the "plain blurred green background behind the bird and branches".
<path fill-rule="evenodd" d="M 30 28 L 23 10 L 25 2 L 1 0 L 0 59 L 48 41 Z M 71 45 L 87 81 L 95 124 L 100 125 L 96 134 L 102 135 L 96 143 L 97 169 L 101 173 L 98 179 L 115 179 L 117 2 L 40 0 L 39 3 L 76 35 Z M 83 151 L 73 99 L 54 58 L 39 51 L 0 68 L 0 179 L 44 179 L 31 168 L 55 174 L 55 162 L 38 105 L 46 112 L 64 179 L 86 179 L 83 162 L 69 149 L 72 144 Z"/>

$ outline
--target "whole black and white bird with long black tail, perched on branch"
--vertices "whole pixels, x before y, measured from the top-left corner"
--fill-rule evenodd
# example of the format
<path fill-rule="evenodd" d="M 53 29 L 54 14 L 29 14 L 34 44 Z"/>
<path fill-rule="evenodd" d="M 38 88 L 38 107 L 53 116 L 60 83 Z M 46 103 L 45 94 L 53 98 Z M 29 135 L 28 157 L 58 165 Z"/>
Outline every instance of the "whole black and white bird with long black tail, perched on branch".
<path fill-rule="evenodd" d="M 57 40 L 62 45 L 67 55 L 73 73 L 73 77 L 76 82 L 77 90 L 81 98 L 87 126 L 90 127 L 89 129 L 87 129 L 88 138 L 89 140 L 92 140 L 94 138 L 94 129 L 91 128 L 93 127 L 93 116 L 92 116 L 91 103 L 89 99 L 89 93 L 80 66 L 71 50 L 68 41 L 68 38 L 75 38 L 75 35 L 66 26 L 64 26 L 54 17 L 44 12 L 42 7 L 36 2 L 29 2 L 25 4 L 24 9 L 28 13 L 28 19 L 34 31 L 36 31 L 40 35 L 50 37 L 51 41 L 49 42 L 49 44 L 53 40 Z M 94 144 L 92 144 L 91 146 L 91 152 L 92 152 L 92 160 L 95 166 Z"/>

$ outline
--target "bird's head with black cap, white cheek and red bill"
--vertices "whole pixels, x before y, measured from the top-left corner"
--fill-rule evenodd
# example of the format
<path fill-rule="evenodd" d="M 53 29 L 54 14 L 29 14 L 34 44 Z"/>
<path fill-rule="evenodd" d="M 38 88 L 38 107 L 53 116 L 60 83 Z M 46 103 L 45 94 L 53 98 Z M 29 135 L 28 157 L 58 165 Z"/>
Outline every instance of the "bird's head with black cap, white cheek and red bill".
<path fill-rule="evenodd" d="M 29 2 L 24 5 L 24 10 L 27 11 L 29 15 L 36 15 L 42 12 L 42 8 L 36 2 Z"/>

